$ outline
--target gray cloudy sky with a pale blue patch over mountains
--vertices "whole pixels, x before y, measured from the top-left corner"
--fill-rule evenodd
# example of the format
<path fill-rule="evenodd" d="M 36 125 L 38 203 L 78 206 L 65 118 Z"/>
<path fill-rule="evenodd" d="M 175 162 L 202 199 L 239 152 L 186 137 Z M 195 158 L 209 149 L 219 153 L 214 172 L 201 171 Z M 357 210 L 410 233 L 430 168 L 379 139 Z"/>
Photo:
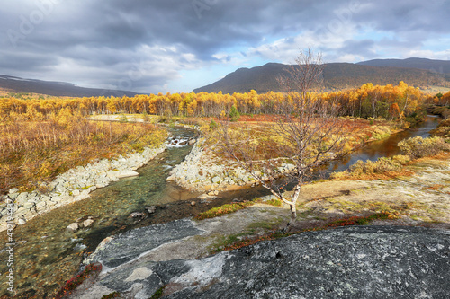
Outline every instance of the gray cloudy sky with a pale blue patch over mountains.
<path fill-rule="evenodd" d="M 191 92 L 239 67 L 450 58 L 446 0 L 14 0 L 0 74 L 134 92 Z"/>

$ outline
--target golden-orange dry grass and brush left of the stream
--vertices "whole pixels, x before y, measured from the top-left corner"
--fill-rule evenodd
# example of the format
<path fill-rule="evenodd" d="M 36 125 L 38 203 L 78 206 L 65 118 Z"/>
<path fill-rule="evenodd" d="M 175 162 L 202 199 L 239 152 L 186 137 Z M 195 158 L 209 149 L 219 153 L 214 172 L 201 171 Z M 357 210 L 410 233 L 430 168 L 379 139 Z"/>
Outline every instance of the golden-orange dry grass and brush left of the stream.
<path fill-rule="evenodd" d="M 161 145 L 165 138 L 166 131 L 153 125 L 89 122 L 71 110 L 15 115 L 0 123 L 0 194 L 40 189 L 71 168 Z"/>

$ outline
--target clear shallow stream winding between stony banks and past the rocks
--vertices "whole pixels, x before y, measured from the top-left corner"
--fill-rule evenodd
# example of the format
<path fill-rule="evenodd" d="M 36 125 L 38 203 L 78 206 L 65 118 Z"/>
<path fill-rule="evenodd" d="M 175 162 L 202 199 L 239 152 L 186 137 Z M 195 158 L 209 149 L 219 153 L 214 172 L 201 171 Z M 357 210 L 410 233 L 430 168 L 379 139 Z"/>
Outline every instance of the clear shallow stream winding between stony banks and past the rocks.
<path fill-rule="evenodd" d="M 426 121 L 413 128 L 390 136 L 344 157 L 330 166 L 330 171 L 343 171 L 357 160 L 376 160 L 382 156 L 399 154 L 397 143 L 411 136 L 428 136 L 436 128 L 438 118 L 428 116 Z M 196 134 L 186 128 L 169 128 L 174 136 L 191 137 Z M 148 165 L 138 170 L 139 176 L 121 179 L 109 186 L 97 189 L 89 198 L 65 207 L 59 207 L 44 215 L 31 219 L 14 229 L 14 289 L 18 298 L 50 298 L 71 277 L 76 275 L 80 263 L 94 251 L 102 240 L 116 233 L 150 224 L 166 223 L 175 219 L 196 215 L 211 207 L 219 207 L 234 198 L 246 199 L 264 196 L 266 189 L 260 187 L 240 189 L 220 194 L 208 204 L 197 199 L 201 193 L 189 192 L 166 182 L 168 172 L 183 161 L 192 145 L 171 146 Z M 192 205 L 193 201 L 195 205 Z M 146 207 L 156 207 L 148 215 Z M 142 213 L 133 218 L 133 212 Z M 66 227 L 76 220 L 87 217 L 94 220 L 93 226 L 68 233 Z M 0 233 L 7 240 L 6 232 Z M 0 251 L 0 296 L 11 295 L 7 291 L 6 266 L 8 253 Z M 3 297 L 2 297 L 3 298 Z"/>

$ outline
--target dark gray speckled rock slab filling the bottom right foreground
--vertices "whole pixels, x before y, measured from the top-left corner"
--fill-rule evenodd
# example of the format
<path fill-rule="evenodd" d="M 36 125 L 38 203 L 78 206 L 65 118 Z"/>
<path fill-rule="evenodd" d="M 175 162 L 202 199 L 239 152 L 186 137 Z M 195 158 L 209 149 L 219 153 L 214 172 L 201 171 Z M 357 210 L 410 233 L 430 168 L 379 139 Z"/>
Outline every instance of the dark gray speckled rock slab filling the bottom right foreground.
<path fill-rule="evenodd" d="M 122 236 L 122 242 L 149 233 L 133 235 Z M 127 242 L 126 251 L 133 247 Z M 124 292 L 139 283 L 144 298 L 160 286 L 172 293 L 165 298 L 183 299 L 447 298 L 449 252 L 450 231 L 354 226 L 258 242 L 205 259 L 141 262 L 112 271 L 100 284 Z"/>

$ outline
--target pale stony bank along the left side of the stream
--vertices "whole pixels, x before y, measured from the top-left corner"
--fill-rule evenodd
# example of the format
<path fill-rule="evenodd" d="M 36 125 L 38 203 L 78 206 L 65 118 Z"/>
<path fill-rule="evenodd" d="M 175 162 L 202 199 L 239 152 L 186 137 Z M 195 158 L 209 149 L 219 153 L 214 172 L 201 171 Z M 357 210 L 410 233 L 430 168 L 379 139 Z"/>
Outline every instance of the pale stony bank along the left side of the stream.
<path fill-rule="evenodd" d="M 89 193 L 107 186 L 110 182 L 121 178 L 139 175 L 139 167 L 147 164 L 166 150 L 166 145 L 157 148 L 145 148 L 141 153 L 119 156 L 117 159 L 103 159 L 98 163 L 78 166 L 58 175 L 56 180 L 47 185 L 49 192 L 19 192 L 10 189 L 0 205 L 0 232 L 6 230 L 7 219 L 14 215 L 14 224 L 23 225 L 32 218 L 48 213 L 57 208 L 85 199 Z M 11 204 L 14 210 L 11 213 Z M 8 206 L 10 204 L 10 206 Z"/>

